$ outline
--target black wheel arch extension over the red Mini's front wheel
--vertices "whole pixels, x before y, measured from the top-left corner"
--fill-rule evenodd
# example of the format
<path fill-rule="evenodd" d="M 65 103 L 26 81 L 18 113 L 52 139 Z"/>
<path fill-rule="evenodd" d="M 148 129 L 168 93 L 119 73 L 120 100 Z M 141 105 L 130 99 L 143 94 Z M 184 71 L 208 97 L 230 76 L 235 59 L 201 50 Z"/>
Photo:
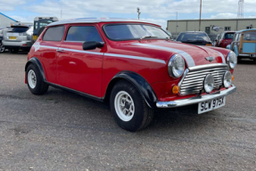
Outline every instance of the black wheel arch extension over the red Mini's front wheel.
<path fill-rule="evenodd" d="M 152 86 L 145 80 L 144 77 L 132 71 L 121 71 L 111 79 L 111 82 L 107 87 L 104 100 L 109 99 L 112 87 L 121 79 L 125 79 L 129 83 L 134 85 L 150 108 L 156 108 L 156 102 L 158 101 L 158 99 L 153 91 Z"/>

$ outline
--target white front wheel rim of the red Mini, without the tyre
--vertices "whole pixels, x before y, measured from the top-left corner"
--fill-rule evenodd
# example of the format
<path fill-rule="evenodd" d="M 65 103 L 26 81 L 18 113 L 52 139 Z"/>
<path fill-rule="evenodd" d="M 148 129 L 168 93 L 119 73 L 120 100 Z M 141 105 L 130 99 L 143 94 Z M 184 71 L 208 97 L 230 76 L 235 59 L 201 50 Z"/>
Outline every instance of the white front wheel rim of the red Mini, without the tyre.
<path fill-rule="evenodd" d="M 119 118 L 123 121 L 128 122 L 133 118 L 135 105 L 131 96 L 127 92 L 120 91 L 116 94 L 114 106 Z"/>

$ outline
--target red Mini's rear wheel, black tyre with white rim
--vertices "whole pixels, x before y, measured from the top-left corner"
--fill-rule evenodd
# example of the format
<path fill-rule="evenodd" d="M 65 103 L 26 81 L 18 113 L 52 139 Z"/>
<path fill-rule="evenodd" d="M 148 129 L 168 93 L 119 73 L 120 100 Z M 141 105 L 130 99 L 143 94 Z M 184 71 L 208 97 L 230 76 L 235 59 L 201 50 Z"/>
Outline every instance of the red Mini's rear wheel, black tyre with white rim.
<path fill-rule="evenodd" d="M 26 70 L 27 84 L 32 94 L 45 94 L 49 85 L 45 83 L 39 69 L 34 64 L 30 64 Z"/>

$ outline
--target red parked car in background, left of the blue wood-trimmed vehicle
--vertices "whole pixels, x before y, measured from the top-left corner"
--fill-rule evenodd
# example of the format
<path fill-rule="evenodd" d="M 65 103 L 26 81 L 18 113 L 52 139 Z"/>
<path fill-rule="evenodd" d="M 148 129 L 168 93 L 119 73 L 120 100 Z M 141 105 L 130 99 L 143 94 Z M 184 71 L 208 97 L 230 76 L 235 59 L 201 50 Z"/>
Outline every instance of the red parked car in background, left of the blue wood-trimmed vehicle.
<path fill-rule="evenodd" d="M 220 36 L 216 39 L 215 46 L 226 48 L 227 45 L 230 45 L 233 37 L 235 35 L 235 31 L 224 31 L 220 34 Z"/>

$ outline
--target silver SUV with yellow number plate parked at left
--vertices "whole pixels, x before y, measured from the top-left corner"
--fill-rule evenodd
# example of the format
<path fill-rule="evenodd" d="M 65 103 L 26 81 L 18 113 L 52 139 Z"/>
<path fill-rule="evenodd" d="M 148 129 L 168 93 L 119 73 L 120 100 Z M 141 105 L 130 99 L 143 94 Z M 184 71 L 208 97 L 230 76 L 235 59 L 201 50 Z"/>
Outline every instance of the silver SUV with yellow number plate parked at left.
<path fill-rule="evenodd" d="M 33 27 L 29 25 L 13 25 L 4 32 L 3 45 L 10 53 L 17 53 L 20 49 L 29 51 L 32 46 Z"/>

